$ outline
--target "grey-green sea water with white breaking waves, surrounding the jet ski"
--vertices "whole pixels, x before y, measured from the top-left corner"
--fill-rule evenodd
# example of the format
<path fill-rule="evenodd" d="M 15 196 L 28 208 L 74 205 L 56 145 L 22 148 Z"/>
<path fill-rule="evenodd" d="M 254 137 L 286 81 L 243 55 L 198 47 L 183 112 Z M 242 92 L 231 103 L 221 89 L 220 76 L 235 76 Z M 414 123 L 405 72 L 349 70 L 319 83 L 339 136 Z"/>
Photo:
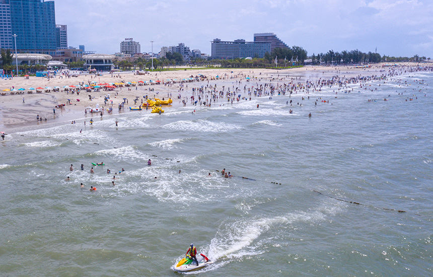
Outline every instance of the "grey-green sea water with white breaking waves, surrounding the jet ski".
<path fill-rule="evenodd" d="M 358 86 L 10 133 L 0 275 L 433 275 L 433 74 Z"/>

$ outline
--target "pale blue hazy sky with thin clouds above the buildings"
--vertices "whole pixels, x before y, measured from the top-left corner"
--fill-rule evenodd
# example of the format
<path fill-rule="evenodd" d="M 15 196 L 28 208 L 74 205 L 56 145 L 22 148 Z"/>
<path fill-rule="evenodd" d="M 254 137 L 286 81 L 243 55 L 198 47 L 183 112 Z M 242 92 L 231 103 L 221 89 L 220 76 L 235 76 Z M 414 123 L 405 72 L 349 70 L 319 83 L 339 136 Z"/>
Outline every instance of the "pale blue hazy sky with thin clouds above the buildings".
<path fill-rule="evenodd" d="M 275 33 L 308 54 L 359 49 L 433 58 L 433 0 L 55 0 L 69 46 L 113 54 L 124 38 L 141 52 L 185 43 L 210 54 L 214 38 Z"/>

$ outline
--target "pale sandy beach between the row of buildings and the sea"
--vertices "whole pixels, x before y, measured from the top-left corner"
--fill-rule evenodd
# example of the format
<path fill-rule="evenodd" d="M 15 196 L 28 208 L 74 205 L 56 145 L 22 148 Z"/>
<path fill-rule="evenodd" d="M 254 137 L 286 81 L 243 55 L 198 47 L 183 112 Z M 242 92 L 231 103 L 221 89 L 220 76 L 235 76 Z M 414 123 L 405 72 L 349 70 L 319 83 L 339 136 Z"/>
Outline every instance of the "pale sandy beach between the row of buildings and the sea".
<path fill-rule="evenodd" d="M 407 65 L 407 64 L 405 64 Z M 100 106 L 104 106 L 104 96 L 110 94 L 110 100 L 113 100 L 113 114 L 117 114 L 119 103 L 123 102 L 123 98 L 126 98 L 128 103 L 124 104 L 125 108 L 121 113 L 126 112 L 150 112 L 149 111 L 130 111 L 128 107 L 138 106 L 140 100 L 138 100 L 137 105 L 134 104 L 133 99 L 135 97 L 139 97 L 142 99 L 143 96 L 148 95 L 151 98 L 156 96 L 157 98 L 165 98 L 167 100 L 168 94 L 172 95 L 173 99 L 173 107 L 182 106 L 182 100 L 189 98 L 192 95 L 192 88 L 199 88 L 201 86 L 206 85 L 216 85 L 217 88 L 221 88 L 225 86 L 226 89 L 230 87 L 251 87 L 252 85 L 256 85 L 256 83 L 290 83 L 294 82 L 302 82 L 305 83 L 307 79 L 310 80 L 318 80 L 321 79 L 329 79 L 333 76 L 371 76 L 371 75 L 380 75 L 380 70 L 383 70 L 382 64 L 374 65 L 371 68 L 355 68 L 353 66 L 306 66 L 301 68 L 292 68 L 290 70 L 267 70 L 262 68 L 234 68 L 234 69 L 218 69 L 211 68 L 208 70 L 187 70 L 187 71 L 169 71 L 169 72 L 151 72 L 146 75 L 134 75 L 133 73 L 117 73 L 120 77 L 116 77 L 116 75 L 104 74 L 103 76 L 94 75 L 91 77 L 90 75 L 81 75 L 79 77 L 71 77 L 71 78 L 60 78 L 57 76 L 56 78 L 51 78 L 49 81 L 47 78 L 41 77 L 30 77 L 29 79 L 24 79 L 23 77 L 16 77 L 13 80 L 0 80 L 0 90 L 4 89 L 15 89 L 25 88 L 24 94 L 20 95 L 10 95 L 10 92 L 1 91 L 2 93 L 7 93 L 7 95 L 0 96 L 0 129 L 3 131 L 11 131 L 14 128 L 24 127 L 24 126 L 37 126 L 43 125 L 47 123 L 53 122 L 66 122 L 71 121 L 77 118 L 84 117 L 84 110 L 86 107 L 95 107 L 96 104 Z M 191 83 L 185 83 L 185 86 L 182 89 L 179 88 L 179 83 L 173 84 L 172 86 L 163 85 L 167 83 L 166 80 L 176 79 L 176 82 L 180 82 L 182 79 L 189 78 L 190 76 L 198 76 L 202 74 L 207 77 L 204 81 L 195 81 Z M 215 79 L 216 76 L 219 76 L 220 79 Z M 246 82 L 246 77 L 251 78 L 251 81 Z M 261 81 L 256 81 L 262 79 Z M 266 79 L 264 79 L 266 78 Z M 271 80 L 274 78 L 274 80 Z M 160 80 L 162 83 L 160 85 L 147 85 L 147 86 L 135 86 L 128 88 L 117 88 L 113 91 L 103 91 L 101 89 L 100 92 L 86 92 L 82 90 L 80 95 L 77 94 L 67 94 L 62 91 L 65 86 L 78 86 L 79 83 L 88 84 L 89 82 L 96 81 L 97 84 L 100 83 L 119 83 L 121 81 L 124 82 L 138 82 L 138 81 L 146 81 L 147 83 L 150 80 L 157 81 Z M 240 84 L 236 84 L 236 81 L 240 81 Z M 60 92 L 51 92 L 51 93 L 40 93 L 36 94 L 33 92 L 32 94 L 28 94 L 28 88 L 38 88 L 38 87 L 60 87 Z M 154 89 L 154 91 L 149 91 L 149 89 Z M 158 92 L 158 93 L 157 93 Z M 117 96 L 114 96 L 115 93 L 118 93 Z M 178 99 L 178 94 L 181 94 L 181 99 Z M 89 100 L 89 95 L 95 97 L 95 99 Z M 23 98 L 24 102 L 23 103 Z M 71 100 L 71 105 L 67 105 L 66 107 L 59 109 L 56 108 L 55 115 L 53 114 L 54 106 L 58 104 L 66 104 L 67 100 Z M 77 99 L 80 99 L 78 102 Z M 145 101 L 146 102 L 146 101 Z M 189 101 L 187 101 L 189 104 Z M 104 108 L 108 108 L 111 106 L 111 102 L 108 106 Z M 170 107 L 164 106 L 165 109 L 169 109 Z M 42 122 L 36 121 L 36 116 L 39 115 L 42 118 L 47 118 L 47 120 L 43 120 Z M 108 115 L 107 112 L 104 113 L 104 116 Z M 89 115 L 88 115 L 89 118 Z M 90 118 L 89 118 L 90 119 Z"/>

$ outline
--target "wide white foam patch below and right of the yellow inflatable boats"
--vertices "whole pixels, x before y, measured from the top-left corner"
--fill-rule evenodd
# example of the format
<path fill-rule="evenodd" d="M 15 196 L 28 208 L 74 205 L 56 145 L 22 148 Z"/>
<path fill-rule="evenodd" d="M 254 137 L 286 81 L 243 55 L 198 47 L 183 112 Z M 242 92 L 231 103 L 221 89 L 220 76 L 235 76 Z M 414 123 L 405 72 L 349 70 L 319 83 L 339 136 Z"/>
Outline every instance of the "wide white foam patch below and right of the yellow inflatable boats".
<path fill-rule="evenodd" d="M 165 129 L 188 130 L 199 132 L 227 132 L 241 129 L 240 126 L 230 123 L 215 123 L 205 119 L 199 120 L 180 120 L 163 126 Z"/>

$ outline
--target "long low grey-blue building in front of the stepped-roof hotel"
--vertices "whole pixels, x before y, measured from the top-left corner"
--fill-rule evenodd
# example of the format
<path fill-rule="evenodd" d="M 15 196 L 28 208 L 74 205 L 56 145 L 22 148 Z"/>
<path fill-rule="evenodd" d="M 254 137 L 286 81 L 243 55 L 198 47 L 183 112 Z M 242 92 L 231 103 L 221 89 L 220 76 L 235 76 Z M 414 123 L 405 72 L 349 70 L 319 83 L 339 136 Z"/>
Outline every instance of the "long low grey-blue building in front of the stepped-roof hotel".
<path fill-rule="evenodd" d="M 221 41 L 214 39 L 211 41 L 211 57 L 222 59 L 264 57 L 265 53 L 270 53 L 270 42 L 248 42 L 245 39 L 235 41 Z"/>

